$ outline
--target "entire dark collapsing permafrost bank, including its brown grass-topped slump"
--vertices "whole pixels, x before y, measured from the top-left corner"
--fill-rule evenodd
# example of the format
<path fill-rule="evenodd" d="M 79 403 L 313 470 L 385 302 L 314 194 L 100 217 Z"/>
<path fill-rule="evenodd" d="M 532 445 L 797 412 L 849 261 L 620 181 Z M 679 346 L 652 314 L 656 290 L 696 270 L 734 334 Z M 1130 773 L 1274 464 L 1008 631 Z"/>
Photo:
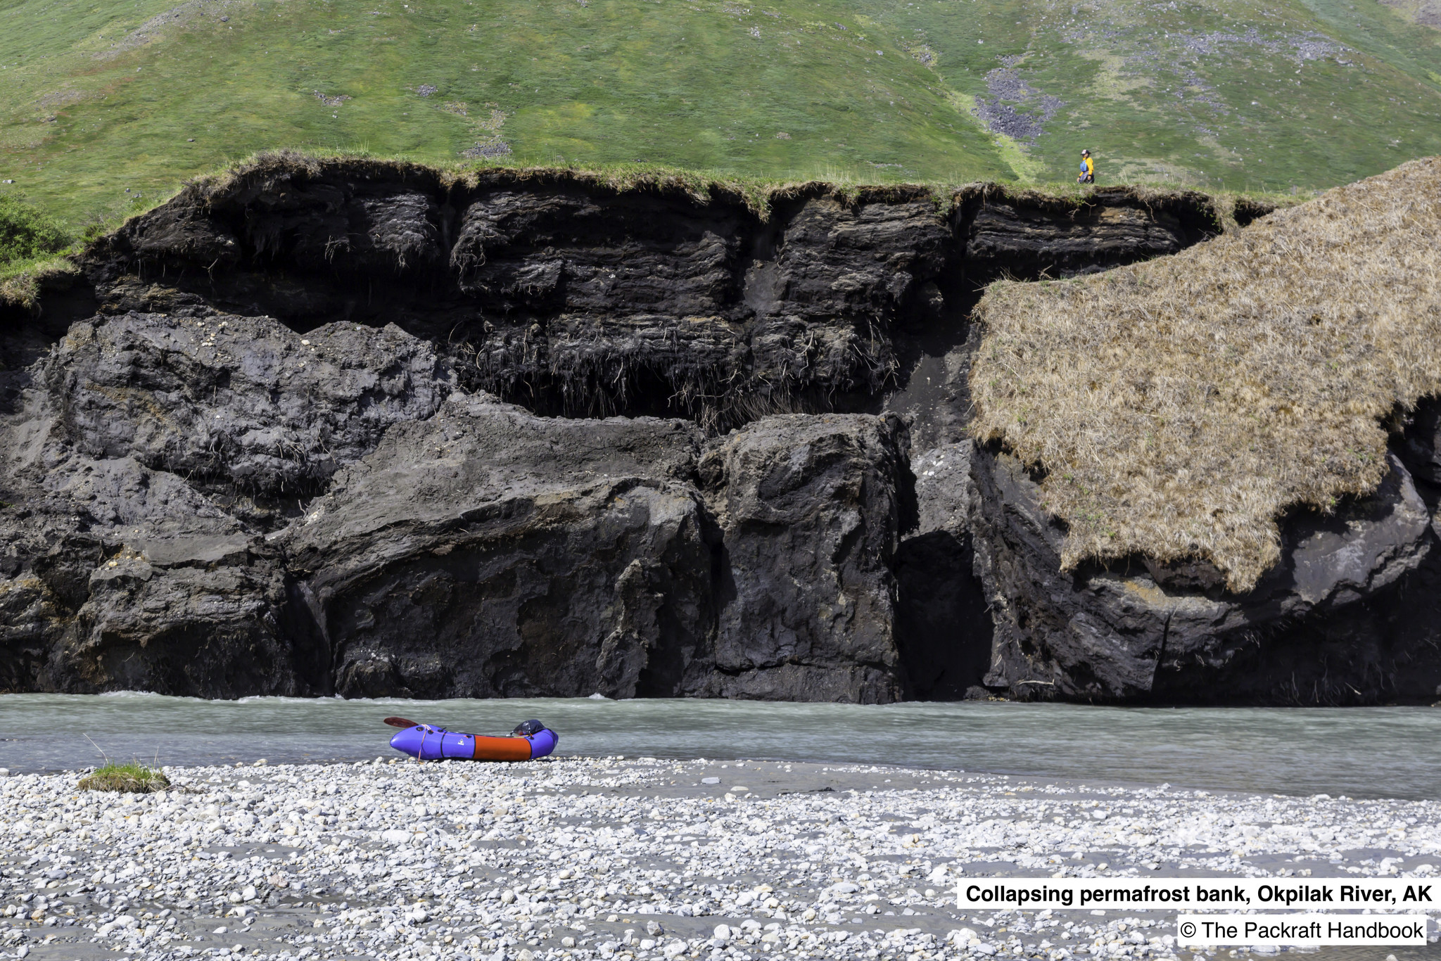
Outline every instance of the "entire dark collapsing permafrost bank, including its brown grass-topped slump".
<path fill-rule="evenodd" d="M 1238 228 L 259 157 L 0 307 L 0 687 L 1431 697 L 1434 170 Z"/>

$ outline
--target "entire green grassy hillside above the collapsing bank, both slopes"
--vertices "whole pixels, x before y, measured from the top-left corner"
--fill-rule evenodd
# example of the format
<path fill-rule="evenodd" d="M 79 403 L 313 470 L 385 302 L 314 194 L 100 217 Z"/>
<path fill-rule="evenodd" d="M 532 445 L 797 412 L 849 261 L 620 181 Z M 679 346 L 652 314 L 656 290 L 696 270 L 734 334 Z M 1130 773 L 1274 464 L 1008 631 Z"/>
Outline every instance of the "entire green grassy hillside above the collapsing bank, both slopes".
<path fill-rule="evenodd" d="M 256 150 L 1327 187 L 1441 153 L 1429 0 L 0 0 L 0 192 L 72 231 Z M 1419 12 L 1419 13 L 1418 13 Z"/>

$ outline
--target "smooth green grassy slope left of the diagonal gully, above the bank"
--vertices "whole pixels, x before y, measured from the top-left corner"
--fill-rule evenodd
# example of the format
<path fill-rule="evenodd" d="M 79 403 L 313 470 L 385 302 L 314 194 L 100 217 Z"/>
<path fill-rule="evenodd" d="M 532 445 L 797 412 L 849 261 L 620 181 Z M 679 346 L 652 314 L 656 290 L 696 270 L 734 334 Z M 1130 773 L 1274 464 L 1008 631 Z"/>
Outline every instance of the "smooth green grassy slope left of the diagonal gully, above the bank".
<path fill-rule="evenodd" d="M 791 0 L 775 17 L 709 0 L 7 7 L 0 16 L 23 26 L 0 37 L 0 177 L 68 219 L 280 146 L 775 177 L 1012 176 L 924 65 L 834 26 L 852 20 L 843 4 Z"/>

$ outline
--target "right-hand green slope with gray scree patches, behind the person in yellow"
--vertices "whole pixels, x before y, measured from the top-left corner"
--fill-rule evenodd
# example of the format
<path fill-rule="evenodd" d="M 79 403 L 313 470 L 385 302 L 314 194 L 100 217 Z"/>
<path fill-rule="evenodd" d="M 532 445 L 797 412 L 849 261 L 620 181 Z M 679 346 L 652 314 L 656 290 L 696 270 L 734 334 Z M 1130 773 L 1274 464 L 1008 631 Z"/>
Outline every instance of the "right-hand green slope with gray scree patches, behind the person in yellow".
<path fill-rule="evenodd" d="M 1030 170 L 1048 176 L 1074 167 L 1084 146 L 1102 179 L 1314 190 L 1441 151 L 1441 30 L 1399 6 L 889 6 L 878 22 L 938 50 L 950 86 L 983 111 L 1014 111 Z"/>

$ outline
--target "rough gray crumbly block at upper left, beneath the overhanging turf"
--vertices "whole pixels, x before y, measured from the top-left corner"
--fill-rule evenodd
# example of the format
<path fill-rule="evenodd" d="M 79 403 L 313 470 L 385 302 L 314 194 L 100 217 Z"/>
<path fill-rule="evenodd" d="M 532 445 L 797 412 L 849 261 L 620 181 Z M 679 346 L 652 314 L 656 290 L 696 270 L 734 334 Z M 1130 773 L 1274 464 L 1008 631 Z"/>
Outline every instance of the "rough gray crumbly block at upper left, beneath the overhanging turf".
<path fill-rule="evenodd" d="M 398 327 L 128 313 L 76 324 L 46 363 L 65 434 L 233 496 L 308 497 L 392 424 L 452 389 L 434 347 Z"/>

